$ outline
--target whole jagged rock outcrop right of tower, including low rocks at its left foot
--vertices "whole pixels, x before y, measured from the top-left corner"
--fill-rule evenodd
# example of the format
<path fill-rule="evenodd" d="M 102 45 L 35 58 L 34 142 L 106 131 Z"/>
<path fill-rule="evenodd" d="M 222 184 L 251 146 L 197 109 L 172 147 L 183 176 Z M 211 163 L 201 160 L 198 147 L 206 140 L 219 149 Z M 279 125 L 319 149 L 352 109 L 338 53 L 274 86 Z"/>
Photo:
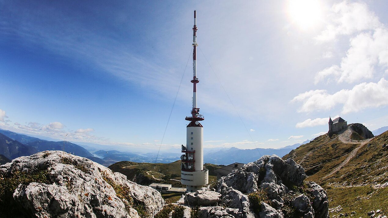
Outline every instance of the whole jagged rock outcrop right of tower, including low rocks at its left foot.
<path fill-rule="evenodd" d="M 207 192 L 217 191 L 221 202 L 200 207 L 197 216 L 328 218 L 326 192 L 306 178 L 304 169 L 292 159 L 284 161 L 267 155 L 222 177 L 215 187 L 199 190 L 201 195 L 186 194 L 185 204 L 191 204 L 188 196 L 206 196 Z"/>

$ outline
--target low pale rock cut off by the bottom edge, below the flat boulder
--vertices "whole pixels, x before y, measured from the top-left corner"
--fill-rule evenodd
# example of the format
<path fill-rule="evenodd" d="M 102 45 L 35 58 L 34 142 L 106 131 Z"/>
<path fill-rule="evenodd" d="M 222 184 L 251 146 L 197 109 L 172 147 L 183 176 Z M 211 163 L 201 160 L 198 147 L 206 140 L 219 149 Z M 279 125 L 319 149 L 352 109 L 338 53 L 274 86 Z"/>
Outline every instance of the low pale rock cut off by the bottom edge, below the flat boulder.
<path fill-rule="evenodd" d="M 217 207 L 201 207 L 198 208 L 197 216 L 199 218 L 240 218 L 242 213 L 239 209 Z"/>

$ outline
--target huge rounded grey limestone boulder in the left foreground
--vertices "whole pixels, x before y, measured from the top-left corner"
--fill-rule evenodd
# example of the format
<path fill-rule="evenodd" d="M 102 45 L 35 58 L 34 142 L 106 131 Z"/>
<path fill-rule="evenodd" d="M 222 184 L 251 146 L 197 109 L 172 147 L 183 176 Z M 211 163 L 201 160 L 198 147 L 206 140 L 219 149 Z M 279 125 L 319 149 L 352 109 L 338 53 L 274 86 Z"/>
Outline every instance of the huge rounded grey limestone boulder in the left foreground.
<path fill-rule="evenodd" d="M 164 204 L 151 187 L 62 151 L 16 158 L 0 167 L 0 177 L 1 217 L 139 217 Z"/>

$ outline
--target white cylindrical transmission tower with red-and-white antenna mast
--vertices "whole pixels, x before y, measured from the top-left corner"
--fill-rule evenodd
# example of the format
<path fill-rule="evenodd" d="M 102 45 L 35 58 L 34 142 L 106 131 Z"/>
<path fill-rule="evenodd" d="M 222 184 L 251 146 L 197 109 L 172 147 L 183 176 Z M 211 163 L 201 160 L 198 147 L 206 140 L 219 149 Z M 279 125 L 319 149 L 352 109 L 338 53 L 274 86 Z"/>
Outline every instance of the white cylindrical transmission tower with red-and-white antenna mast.
<path fill-rule="evenodd" d="M 199 114 L 197 108 L 197 21 L 196 11 L 194 10 L 194 27 L 193 27 L 193 105 L 191 117 L 186 117 L 185 120 L 190 121 L 186 127 L 186 146 L 182 144 L 182 152 L 180 158 L 181 164 L 181 182 L 186 185 L 186 192 L 195 192 L 208 184 L 208 170 L 203 168 L 203 126 L 199 121 L 204 120 Z"/>

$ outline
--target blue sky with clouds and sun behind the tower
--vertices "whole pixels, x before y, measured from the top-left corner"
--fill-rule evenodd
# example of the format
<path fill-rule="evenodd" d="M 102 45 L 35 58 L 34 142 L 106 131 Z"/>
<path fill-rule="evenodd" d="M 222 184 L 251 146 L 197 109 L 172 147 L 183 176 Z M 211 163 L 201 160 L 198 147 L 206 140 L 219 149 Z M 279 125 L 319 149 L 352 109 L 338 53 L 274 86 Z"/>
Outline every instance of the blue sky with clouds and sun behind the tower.
<path fill-rule="evenodd" d="M 329 115 L 378 129 L 388 125 L 387 4 L 0 1 L 0 128 L 158 149 L 197 10 L 205 148 L 287 146 L 327 132 Z M 185 143 L 191 69 L 162 149 Z"/>

